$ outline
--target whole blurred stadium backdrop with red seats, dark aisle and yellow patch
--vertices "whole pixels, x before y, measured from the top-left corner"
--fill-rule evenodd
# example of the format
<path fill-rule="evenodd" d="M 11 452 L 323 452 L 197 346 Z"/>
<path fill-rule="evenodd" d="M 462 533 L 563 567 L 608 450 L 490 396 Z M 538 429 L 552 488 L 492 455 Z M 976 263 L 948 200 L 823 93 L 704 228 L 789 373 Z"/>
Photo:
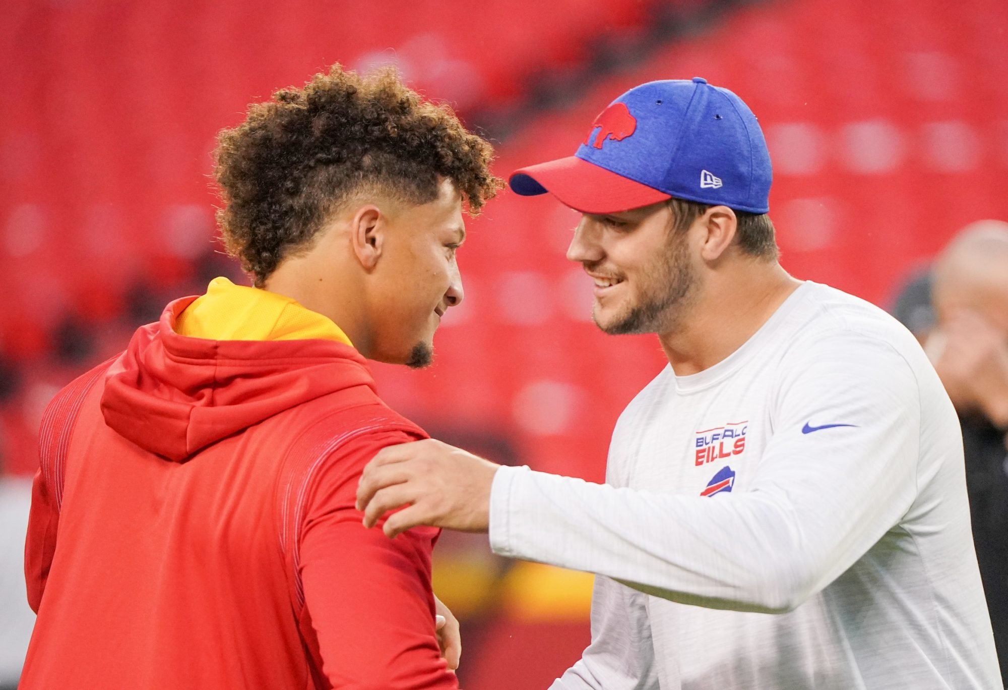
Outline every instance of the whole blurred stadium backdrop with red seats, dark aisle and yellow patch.
<path fill-rule="evenodd" d="M 33 472 L 58 386 L 169 299 L 238 275 L 214 239 L 215 134 L 333 63 L 398 66 L 491 138 L 503 177 L 571 154 L 636 84 L 705 77 L 760 118 L 784 266 L 885 306 L 960 227 L 1008 218 L 1006 31 L 1003 0 L 8 0 L 0 463 Z M 664 360 L 591 323 L 563 258 L 576 222 L 548 197 L 491 202 L 435 365 L 376 365 L 384 397 L 498 461 L 601 480 L 616 418 Z M 590 578 L 510 567 L 485 540 L 442 548 L 467 685 L 544 687 L 575 661 Z"/>

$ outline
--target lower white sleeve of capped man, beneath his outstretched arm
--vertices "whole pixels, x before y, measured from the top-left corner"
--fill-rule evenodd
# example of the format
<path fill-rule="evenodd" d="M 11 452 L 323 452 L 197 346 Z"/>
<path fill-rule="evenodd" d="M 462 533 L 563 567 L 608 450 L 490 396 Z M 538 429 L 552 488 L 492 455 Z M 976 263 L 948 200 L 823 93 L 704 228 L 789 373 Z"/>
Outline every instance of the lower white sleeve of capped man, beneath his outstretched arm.
<path fill-rule="evenodd" d="M 550 690 L 658 690 L 645 595 L 595 578 L 592 644 Z"/>

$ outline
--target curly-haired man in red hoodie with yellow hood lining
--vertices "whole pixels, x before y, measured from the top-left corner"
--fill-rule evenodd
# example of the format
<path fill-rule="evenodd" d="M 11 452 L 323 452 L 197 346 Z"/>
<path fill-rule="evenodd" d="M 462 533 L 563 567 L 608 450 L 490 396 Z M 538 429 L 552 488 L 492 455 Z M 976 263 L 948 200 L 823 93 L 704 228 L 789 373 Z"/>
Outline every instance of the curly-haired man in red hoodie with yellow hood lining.
<path fill-rule="evenodd" d="M 389 541 L 354 499 L 378 450 L 425 438 L 365 357 L 430 362 L 490 158 L 394 74 L 339 67 L 222 133 L 219 221 L 254 286 L 171 303 L 49 405 L 20 687 L 457 687 L 437 531 Z"/>

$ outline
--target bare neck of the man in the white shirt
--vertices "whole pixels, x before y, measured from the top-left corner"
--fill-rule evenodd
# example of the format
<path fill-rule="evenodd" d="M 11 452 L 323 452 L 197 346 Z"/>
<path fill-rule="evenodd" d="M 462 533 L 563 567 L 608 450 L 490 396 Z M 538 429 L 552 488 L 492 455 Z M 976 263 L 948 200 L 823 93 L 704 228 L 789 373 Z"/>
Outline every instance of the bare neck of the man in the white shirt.
<path fill-rule="evenodd" d="M 735 352 L 801 284 L 776 261 L 733 264 L 710 275 L 676 326 L 658 334 L 677 376 L 703 371 Z"/>

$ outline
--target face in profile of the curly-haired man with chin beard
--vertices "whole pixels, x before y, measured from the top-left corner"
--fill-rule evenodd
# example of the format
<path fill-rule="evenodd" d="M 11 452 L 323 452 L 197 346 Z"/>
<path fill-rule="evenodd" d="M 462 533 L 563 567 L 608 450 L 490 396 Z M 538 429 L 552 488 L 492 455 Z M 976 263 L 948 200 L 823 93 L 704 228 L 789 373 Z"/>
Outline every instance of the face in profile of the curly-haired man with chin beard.
<path fill-rule="evenodd" d="M 382 257 L 371 275 L 372 359 L 422 367 L 433 335 L 464 293 L 456 251 L 466 239 L 462 198 L 445 180 L 437 199 L 386 217 Z"/>

